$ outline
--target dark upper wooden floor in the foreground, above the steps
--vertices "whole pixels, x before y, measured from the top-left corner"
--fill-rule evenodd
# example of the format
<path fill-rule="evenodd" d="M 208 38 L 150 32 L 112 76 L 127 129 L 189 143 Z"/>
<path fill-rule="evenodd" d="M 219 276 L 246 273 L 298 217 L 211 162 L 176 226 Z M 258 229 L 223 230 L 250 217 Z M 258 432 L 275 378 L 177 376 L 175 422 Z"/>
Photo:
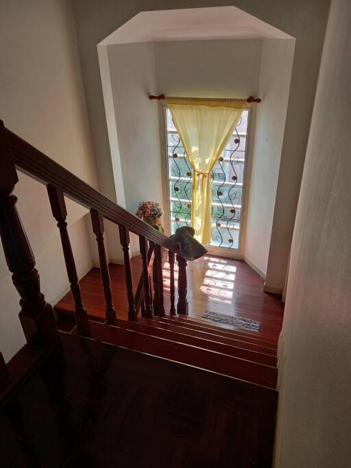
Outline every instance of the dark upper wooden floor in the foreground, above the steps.
<path fill-rule="evenodd" d="M 60 333 L 0 409 L 0 466 L 271 467 L 276 393 Z"/>

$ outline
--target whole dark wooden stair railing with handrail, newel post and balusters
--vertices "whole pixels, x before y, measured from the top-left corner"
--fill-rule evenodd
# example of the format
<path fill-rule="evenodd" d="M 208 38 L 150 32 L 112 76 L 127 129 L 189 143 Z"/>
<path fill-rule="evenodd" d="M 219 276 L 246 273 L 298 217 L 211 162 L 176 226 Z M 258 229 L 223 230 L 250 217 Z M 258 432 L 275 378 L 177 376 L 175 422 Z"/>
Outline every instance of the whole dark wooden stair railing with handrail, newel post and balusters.
<path fill-rule="evenodd" d="M 161 317 L 165 315 L 162 277 L 162 251 L 165 250 L 168 251 L 170 264 L 170 313 L 175 314 L 174 258 L 176 258 L 179 267 L 177 312 L 187 314 L 186 260 L 180 255 L 177 243 L 130 214 L 25 140 L 10 132 L 4 127 L 2 121 L 0 121 L 0 167 L 1 241 L 8 268 L 12 272 L 12 281 L 21 297 L 19 317 L 27 341 L 35 339 L 44 343 L 45 347 L 51 347 L 58 341 L 58 332 L 53 310 L 45 302 L 45 297 L 40 291 L 34 255 L 16 210 L 17 199 L 12 195 L 14 186 L 19 180 L 16 169 L 47 186 L 51 211 L 60 232 L 64 262 L 75 303 L 77 332 L 80 335 L 90 336 L 90 330 L 67 230 L 65 197 L 73 199 L 90 210 L 99 251 L 107 323 L 114 325 L 117 318 L 112 302 L 110 274 L 104 246 L 104 219 L 112 221 L 119 227 L 124 258 L 125 290 L 128 297 L 128 319 L 135 321 L 140 308 L 147 318 L 152 318 L 154 313 Z M 139 238 L 143 260 L 143 272 L 135 295 L 130 264 L 130 232 Z"/>

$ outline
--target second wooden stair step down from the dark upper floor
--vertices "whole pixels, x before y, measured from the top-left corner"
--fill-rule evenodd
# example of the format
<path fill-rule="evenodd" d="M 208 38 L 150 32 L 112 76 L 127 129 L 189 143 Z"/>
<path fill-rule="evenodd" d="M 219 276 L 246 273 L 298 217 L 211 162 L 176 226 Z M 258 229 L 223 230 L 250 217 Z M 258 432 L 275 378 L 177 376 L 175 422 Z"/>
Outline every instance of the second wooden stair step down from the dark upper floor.
<path fill-rule="evenodd" d="M 180 332 L 174 332 L 162 328 L 162 323 L 141 323 L 141 322 L 131 322 L 125 320 L 117 320 L 117 326 L 120 328 L 125 328 L 127 330 L 136 330 L 137 332 L 149 334 L 152 336 L 158 336 L 159 338 L 165 338 L 168 340 L 175 341 L 177 343 L 185 343 L 187 345 L 193 345 L 197 347 L 202 347 L 204 349 L 210 349 L 211 351 L 216 351 L 222 354 L 228 354 L 228 356 L 234 356 L 237 358 L 242 358 L 245 360 L 251 360 L 253 362 L 260 362 L 268 366 L 276 367 L 277 358 L 276 356 L 271 356 L 269 354 L 263 354 L 261 352 L 252 351 L 250 349 L 245 349 L 242 347 L 233 346 L 232 344 L 228 345 L 226 343 L 219 343 L 214 341 L 211 336 L 206 338 L 193 336 L 189 330 L 182 329 Z M 188 333 L 183 333 L 183 331 Z"/>

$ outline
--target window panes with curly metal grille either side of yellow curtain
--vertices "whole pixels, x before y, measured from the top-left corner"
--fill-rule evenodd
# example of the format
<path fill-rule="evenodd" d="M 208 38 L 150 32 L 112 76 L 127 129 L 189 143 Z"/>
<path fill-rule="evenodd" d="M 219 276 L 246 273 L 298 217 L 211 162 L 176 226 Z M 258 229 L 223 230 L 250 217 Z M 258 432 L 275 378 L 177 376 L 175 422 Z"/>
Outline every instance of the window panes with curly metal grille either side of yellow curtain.
<path fill-rule="evenodd" d="M 234 133 L 211 171 L 212 242 L 210 245 L 238 250 L 245 173 L 249 110 L 243 110 Z M 171 234 L 177 227 L 191 225 L 193 169 L 166 108 L 169 212 Z"/>

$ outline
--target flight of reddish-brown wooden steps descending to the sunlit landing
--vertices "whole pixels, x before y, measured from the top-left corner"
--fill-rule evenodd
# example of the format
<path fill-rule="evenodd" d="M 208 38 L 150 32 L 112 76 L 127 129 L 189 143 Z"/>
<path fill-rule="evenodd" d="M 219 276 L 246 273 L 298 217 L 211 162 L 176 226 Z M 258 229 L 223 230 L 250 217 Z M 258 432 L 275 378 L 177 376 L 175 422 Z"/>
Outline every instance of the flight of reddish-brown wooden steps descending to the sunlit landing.
<path fill-rule="evenodd" d="M 62 310 L 58 328 L 77 333 L 73 320 Z M 71 328 L 67 322 L 71 322 Z M 136 321 L 117 319 L 114 325 L 89 321 L 92 338 L 192 365 L 269 389 L 276 388 L 277 343 L 274 338 L 226 330 L 186 316 L 139 317 Z"/>

